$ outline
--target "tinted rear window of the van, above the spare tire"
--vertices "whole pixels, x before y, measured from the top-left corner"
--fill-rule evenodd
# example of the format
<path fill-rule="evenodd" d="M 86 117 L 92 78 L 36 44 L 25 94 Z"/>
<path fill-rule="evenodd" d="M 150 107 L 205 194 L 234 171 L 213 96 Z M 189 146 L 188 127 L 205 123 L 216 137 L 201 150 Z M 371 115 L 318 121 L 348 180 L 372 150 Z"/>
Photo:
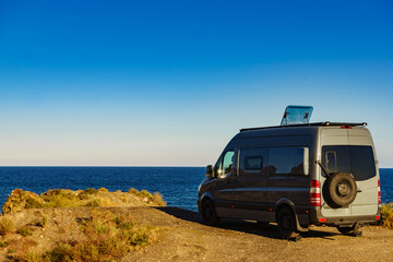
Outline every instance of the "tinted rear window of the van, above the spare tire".
<path fill-rule="evenodd" d="M 322 165 L 330 174 L 350 172 L 357 181 L 367 180 L 376 176 L 376 160 L 371 146 L 322 146 Z"/>

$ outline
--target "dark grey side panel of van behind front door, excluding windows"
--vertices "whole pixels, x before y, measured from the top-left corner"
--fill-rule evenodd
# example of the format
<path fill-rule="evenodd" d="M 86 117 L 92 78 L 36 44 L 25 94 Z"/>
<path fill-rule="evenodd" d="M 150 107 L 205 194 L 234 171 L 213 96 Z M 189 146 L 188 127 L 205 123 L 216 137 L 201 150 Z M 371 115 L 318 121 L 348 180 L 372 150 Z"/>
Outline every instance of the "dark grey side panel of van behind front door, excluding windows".
<path fill-rule="evenodd" d="M 290 134 L 288 132 L 282 135 L 264 135 L 257 138 L 241 138 L 238 147 L 245 148 L 265 148 L 269 152 L 271 147 L 308 147 L 309 163 L 314 155 L 313 134 Z M 294 203 L 297 214 L 306 214 L 310 205 L 310 175 L 312 165 L 310 165 L 310 175 L 273 175 L 267 171 L 269 155 L 264 154 L 264 168 L 266 172 L 255 174 L 255 177 L 241 177 L 242 167 L 238 168 L 238 177 L 234 181 L 235 210 L 234 215 L 237 218 L 249 218 L 259 221 L 275 221 L 275 210 L 277 202 L 288 199 Z M 308 223 L 308 216 L 302 216 Z M 302 221 L 305 221 L 302 219 Z"/>

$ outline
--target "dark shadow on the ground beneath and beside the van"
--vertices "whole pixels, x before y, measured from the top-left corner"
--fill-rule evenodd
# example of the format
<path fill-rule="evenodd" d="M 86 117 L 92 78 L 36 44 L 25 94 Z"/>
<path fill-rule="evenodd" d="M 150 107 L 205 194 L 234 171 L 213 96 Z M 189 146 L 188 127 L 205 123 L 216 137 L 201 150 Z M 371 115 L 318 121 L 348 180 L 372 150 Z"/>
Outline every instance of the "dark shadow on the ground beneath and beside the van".
<path fill-rule="evenodd" d="M 199 223 L 202 223 L 201 216 L 198 212 L 188 211 L 174 206 L 164 206 L 164 207 L 154 207 L 159 210 L 168 215 L 175 216 L 176 218 Z M 224 228 L 229 230 L 236 230 L 246 234 L 253 234 L 261 237 L 273 238 L 273 239 L 282 239 L 277 226 L 273 224 L 259 224 L 252 221 L 242 221 L 242 219 L 231 219 L 231 218 L 223 218 L 217 228 Z M 307 233 L 301 233 L 302 238 L 322 238 L 326 240 L 334 240 L 333 236 L 341 235 L 338 233 L 331 233 L 318 229 L 310 229 Z"/>

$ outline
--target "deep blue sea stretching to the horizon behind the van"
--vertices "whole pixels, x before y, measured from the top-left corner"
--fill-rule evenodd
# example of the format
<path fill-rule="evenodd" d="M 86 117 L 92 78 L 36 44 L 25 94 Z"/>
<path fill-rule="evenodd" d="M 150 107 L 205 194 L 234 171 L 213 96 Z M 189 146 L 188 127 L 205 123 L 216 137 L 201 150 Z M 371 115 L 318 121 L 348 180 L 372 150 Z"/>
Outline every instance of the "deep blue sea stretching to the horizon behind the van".
<path fill-rule="evenodd" d="M 130 188 L 159 192 L 169 206 L 196 211 L 198 187 L 205 167 L 0 167 L 0 204 L 14 189 L 43 193 L 49 189 Z M 380 169 L 382 203 L 393 202 L 393 168 Z"/>

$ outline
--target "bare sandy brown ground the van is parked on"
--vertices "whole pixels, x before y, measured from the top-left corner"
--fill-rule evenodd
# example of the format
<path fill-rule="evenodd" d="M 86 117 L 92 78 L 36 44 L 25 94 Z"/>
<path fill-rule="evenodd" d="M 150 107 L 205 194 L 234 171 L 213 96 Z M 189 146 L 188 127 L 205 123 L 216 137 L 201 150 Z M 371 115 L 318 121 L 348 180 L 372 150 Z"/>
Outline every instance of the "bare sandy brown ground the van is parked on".
<path fill-rule="evenodd" d="M 53 240 L 72 239 L 75 221 L 93 207 L 26 210 L 8 215 L 15 224 L 43 213 L 48 226 L 34 231 L 37 248 Z M 365 227 L 362 237 L 341 235 L 335 228 L 312 227 L 300 241 L 279 238 L 274 225 L 224 221 L 221 227 L 202 225 L 199 214 L 177 207 L 99 207 L 116 215 L 132 215 L 140 223 L 158 229 L 157 240 L 128 253 L 119 261 L 392 261 L 393 230 Z M 75 224 L 76 225 L 76 224 Z M 76 227 L 75 227 L 76 230 Z M 22 241 L 22 237 L 21 241 Z M 23 241 L 26 241 L 24 238 Z M 0 251 L 0 261 L 8 261 Z"/>

